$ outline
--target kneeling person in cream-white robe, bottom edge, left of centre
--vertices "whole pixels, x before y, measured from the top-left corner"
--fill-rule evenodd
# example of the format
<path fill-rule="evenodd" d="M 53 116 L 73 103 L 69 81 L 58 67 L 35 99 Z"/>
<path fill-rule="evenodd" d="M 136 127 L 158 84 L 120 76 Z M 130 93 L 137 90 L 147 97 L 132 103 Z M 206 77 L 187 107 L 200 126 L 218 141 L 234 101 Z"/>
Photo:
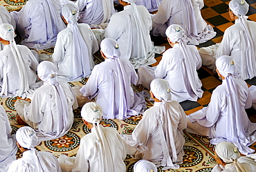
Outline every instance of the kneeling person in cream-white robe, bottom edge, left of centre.
<path fill-rule="evenodd" d="M 115 128 L 100 125 L 102 108 L 95 102 L 89 102 L 82 107 L 81 115 L 91 133 L 82 137 L 75 162 L 73 157 L 60 155 L 62 172 L 125 172 L 123 140 Z"/>

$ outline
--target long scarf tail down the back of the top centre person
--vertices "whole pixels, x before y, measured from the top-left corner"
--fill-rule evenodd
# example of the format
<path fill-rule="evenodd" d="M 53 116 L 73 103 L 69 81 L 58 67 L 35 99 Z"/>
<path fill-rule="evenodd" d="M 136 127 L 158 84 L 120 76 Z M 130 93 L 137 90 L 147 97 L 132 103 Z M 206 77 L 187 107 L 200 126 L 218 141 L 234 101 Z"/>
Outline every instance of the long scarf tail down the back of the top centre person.
<path fill-rule="evenodd" d="M 136 29 L 137 31 L 137 40 L 132 40 L 132 36 L 129 37 L 129 40 L 127 40 L 128 47 L 132 47 L 133 41 L 137 41 L 138 42 L 138 47 L 137 47 L 137 58 L 138 59 L 147 59 L 147 50 L 145 47 L 145 39 L 143 37 L 143 30 L 147 30 L 145 29 L 145 26 L 141 23 L 143 23 L 143 18 L 141 17 L 140 13 L 138 12 L 137 8 L 136 8 L 136 0 L 123 0 L 127 3 L 131 3 L 133 12 L 134 12 L 134 22 L 135 22 L 135 28 L 133 28 L 134 26 L 131 25 L 131 16 L 127 16 L 128 17 L 128 21 L 129 21 L 129 35 L 132 35 L 132 30 Z M 131 57 L 131 50 L 127 49 L 127 57 Z"/>

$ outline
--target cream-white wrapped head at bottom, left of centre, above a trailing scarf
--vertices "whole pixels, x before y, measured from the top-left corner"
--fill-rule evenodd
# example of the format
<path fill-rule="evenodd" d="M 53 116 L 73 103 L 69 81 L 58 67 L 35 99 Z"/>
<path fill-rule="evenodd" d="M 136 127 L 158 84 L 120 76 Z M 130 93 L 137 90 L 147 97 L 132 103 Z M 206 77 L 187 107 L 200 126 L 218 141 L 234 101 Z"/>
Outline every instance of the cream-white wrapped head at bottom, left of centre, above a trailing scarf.
<path fill-rule="evenodd" d="M 82 118 L 86 120 L 86 122 L 95 124 L 102 120 L 103 112 L 99 104 L 95 102 L 89 102 L 84 104 L 82 107 L 81 115 Z"/>

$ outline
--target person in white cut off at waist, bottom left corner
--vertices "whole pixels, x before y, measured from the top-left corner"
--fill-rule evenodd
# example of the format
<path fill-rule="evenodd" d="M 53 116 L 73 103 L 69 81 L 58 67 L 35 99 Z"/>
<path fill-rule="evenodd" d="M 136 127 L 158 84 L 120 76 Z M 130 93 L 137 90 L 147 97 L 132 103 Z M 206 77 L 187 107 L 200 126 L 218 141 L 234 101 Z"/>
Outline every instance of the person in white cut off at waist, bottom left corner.
<path fill-rule="evenodd" d="M 19 128 L 16 133 L 17 146 L 23 153 L 19 160 L 10 165 L 8 172 L 61 172 L 57 158 L 48 152 L 38 152 L 35 149 L 40 142 L 38 137 L 29 126 Z"/>

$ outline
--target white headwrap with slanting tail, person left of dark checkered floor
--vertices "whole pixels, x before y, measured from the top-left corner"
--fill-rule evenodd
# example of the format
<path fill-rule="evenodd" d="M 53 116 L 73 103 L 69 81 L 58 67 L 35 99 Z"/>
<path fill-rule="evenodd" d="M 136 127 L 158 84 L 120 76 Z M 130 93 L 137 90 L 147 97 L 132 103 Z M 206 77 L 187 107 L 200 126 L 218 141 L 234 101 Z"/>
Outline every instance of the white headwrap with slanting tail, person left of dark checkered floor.
<path fill-rule="evenodd" d="M 197 97 L 201 97 L 201 92 L 197 91 L 198 88 L 201 88 L 201 82 L 198 82 L 199 79 L 197 77 L 195 68 L 193 68 L 194 65 L 191 65 L 194 63 L 194 61 L 192 61 L 192 59 L 190 58 L 192 52 L 185 41 L 185 30 L 178 24 L 172 24 L 166 29 L 165 34 L 170 39 L 170 41 L 172 41 L 172 43 L 179 42 L 181 46 L 181 51 L 183 52 L 184 55 L 183 57 L 185 59 L 183 61 L 183 66 L 185 68 L 185 73 L 188 76 L 190 86 L 194 94 Z M 201 57 L 199 57 L 199 59 L 200 58 Z M 187 88 L 187 90 L 190 90 L 190 88 Z"/>

